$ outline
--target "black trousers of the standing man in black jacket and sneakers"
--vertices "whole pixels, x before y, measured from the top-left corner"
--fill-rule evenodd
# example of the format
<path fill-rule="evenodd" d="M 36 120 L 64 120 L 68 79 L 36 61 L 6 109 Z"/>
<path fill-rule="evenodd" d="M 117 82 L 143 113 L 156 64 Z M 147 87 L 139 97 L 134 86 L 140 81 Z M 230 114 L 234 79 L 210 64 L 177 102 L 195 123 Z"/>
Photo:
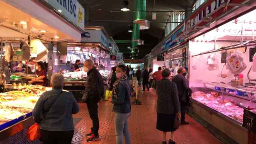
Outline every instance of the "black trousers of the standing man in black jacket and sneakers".
<path fill-rule="evenodd" d="M 99 118 L 98 118 L 98 100 L 88 99 L 86 101 L 86 104 L 87 104 L 90 118 L 92 120 L 92 128 L 91 128 L 92 133 L 95 136 L 98 136 L 99 135 L 98 131 L 100 128 L 100 123 L 99 123 Z"/>

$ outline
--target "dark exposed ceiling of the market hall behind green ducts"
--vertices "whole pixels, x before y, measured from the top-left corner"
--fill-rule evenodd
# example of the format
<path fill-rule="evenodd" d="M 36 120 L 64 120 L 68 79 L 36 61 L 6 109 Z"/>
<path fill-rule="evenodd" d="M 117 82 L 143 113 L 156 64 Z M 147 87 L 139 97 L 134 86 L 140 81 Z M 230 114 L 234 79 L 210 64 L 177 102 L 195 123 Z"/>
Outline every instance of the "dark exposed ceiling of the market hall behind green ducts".
<path fill-rule="evenodd" d="M 103 26 L 114 40 L 130 40 L 132 34 L 128 32 L 128 25 L 132 24 L 134 12 L 120 12 L 122 0 L 78 0 L 86 9 L 86 25 Z M 129 9 L 134 10 L 134 1 L 129 0 Z M 139 46 L 137 58 L 143 58 L 158 44 L 164 34 L 164 27 L 169 11 L 184 11 L 192 8 L 194 0 L 146 0 L 146 11 L 157 11 L 156 20 L 152 20 L 151 12 L 146 13 L 150 20 L 150 29 L 140 32 L 144 45 Z M 164 11 L 164 12 L 160 12 Z M 142 38 L 142 35 L 144 36 Z M 130 58 L 127 44 L 118 44 L 125 58 Z"/>

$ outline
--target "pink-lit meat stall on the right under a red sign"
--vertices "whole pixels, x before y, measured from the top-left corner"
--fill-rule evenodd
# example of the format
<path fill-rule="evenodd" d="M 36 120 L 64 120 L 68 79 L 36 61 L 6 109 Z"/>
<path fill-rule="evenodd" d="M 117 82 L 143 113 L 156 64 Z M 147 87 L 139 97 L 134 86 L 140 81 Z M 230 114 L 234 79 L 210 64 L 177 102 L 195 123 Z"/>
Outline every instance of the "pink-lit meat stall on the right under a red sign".
<path fill-rule="evenodd" d="M 245 108 L 252 114 L 256 108 L 256 73 L 251 70 L 256 3 L 214 2 L 206 2 L 185 22 L 192 114 L 224 142 L 250 144 L 251 132 L 243 126 Z M 206 16 L 196 17 L 209 6 Z"/>

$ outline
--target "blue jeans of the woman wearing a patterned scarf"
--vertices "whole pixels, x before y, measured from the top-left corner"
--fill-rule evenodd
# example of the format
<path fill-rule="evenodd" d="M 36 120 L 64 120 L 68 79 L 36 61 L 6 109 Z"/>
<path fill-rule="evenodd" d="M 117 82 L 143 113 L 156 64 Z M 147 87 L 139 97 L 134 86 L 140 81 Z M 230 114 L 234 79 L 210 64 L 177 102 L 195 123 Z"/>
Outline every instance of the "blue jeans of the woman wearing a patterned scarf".
<path fill-rule="evenodd" d="M 115 130 L 116 130 L 116 144 L 123 144 L 123 135 L 125 138 L 125 144 L 131 144 L 130 132 L 128 130 L 128 118 L 131 113 L 120 113 L 115 114 Z"/>

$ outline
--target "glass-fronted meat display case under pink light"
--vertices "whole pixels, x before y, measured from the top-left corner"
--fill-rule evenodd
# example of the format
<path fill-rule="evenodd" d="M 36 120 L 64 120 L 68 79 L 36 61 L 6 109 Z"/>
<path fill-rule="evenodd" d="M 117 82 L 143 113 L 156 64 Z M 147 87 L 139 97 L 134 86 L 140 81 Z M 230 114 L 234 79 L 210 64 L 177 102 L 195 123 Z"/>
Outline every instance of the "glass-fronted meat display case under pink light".
<path fill-rule="evenodd" d="M 203 81 L 197 81 L 191 88 L 192 114 L 205 121 L 207 127 L 227 136 L 228 143 L 247 144 L 243 113 L 244 108 L 256 108 L 256 88 Z"/>

